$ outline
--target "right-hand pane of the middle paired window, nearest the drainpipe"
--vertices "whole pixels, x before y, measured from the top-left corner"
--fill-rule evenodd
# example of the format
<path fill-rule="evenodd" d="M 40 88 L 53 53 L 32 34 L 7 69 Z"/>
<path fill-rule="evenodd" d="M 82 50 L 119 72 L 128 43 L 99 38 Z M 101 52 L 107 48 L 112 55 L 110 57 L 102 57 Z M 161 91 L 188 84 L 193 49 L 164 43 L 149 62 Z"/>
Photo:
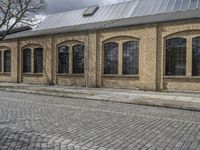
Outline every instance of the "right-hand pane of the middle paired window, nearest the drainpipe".
<path fill-rule="evenodd" d="M 73 73 L 84 73 L 84 45 L 78 44 L 72 47 L 73 50 Z"/>

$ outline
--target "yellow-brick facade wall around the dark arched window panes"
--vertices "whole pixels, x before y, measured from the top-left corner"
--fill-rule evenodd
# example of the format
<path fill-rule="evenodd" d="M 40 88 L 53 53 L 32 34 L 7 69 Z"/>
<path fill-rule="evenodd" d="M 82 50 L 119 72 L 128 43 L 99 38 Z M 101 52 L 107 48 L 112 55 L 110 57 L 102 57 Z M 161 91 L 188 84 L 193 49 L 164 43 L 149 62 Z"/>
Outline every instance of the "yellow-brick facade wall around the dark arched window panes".
<path fill-rule="evenodd" d="M 193 77 L 191 74 L 192 38 L 197 36 L 200 36 L 200 21 L 198 20 L 4 40 L 0 42 L 0 50 L 5 47 L 11 49 L 11 73 L 1 73 L 0 81 L 142 90 L 200 91 L 200 77 Z M 165 40 L 172 37 L 187 39 L 186 76 L 165 76 Z M 139 75 L 122 75 L 122 50 L 120 49 L 118 75 L 104 75 L 103 44 L 107 41 L 115 41 L 121 45 L 122 41 L 130 39 L 139 41 Z M 72 66 L 69 66 L 69 74 L 57 73 L 57 48 L 64 43 L 71 46 L 76 43 L 85 45 L 84 74 L 72 74 Z M 44 50 L 43 73 L 22 73 L 22 49 L 38 45 Z M 71 53 L 70 49 L 69 55 Z M 71 56 L 69 59 L 71 62 Z"/>

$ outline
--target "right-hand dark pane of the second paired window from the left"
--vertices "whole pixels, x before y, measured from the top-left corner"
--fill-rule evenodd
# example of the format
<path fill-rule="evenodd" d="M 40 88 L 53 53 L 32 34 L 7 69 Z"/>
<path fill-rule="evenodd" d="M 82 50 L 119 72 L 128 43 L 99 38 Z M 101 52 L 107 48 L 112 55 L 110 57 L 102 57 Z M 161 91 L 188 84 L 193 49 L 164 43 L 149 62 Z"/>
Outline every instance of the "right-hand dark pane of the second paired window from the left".
<path fill-rule="evenodd" d="M 43 48 L 34 49 L 34 73 L 43 72 Z"/>

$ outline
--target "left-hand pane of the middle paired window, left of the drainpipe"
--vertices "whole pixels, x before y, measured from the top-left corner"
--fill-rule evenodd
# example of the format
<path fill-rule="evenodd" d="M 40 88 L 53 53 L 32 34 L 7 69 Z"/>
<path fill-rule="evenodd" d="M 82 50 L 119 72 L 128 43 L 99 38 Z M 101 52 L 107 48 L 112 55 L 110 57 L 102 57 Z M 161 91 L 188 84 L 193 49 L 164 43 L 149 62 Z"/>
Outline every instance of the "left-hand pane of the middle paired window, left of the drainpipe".
<path fill-rule="evenodd" d="M 69 47 L 58 47 L 58 73 L 69 73 Z"/>

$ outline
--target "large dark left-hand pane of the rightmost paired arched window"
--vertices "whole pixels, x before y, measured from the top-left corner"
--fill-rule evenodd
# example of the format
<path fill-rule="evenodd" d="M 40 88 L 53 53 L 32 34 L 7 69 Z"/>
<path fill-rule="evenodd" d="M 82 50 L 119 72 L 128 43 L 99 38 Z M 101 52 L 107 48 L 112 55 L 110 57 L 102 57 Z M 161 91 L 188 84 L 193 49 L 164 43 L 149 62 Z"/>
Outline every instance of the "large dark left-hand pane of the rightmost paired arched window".
<path fill-rule="evenodd" d="M 186 39 L 172 38 L 166 41 L 166 75 L 186 75 Z"/>

